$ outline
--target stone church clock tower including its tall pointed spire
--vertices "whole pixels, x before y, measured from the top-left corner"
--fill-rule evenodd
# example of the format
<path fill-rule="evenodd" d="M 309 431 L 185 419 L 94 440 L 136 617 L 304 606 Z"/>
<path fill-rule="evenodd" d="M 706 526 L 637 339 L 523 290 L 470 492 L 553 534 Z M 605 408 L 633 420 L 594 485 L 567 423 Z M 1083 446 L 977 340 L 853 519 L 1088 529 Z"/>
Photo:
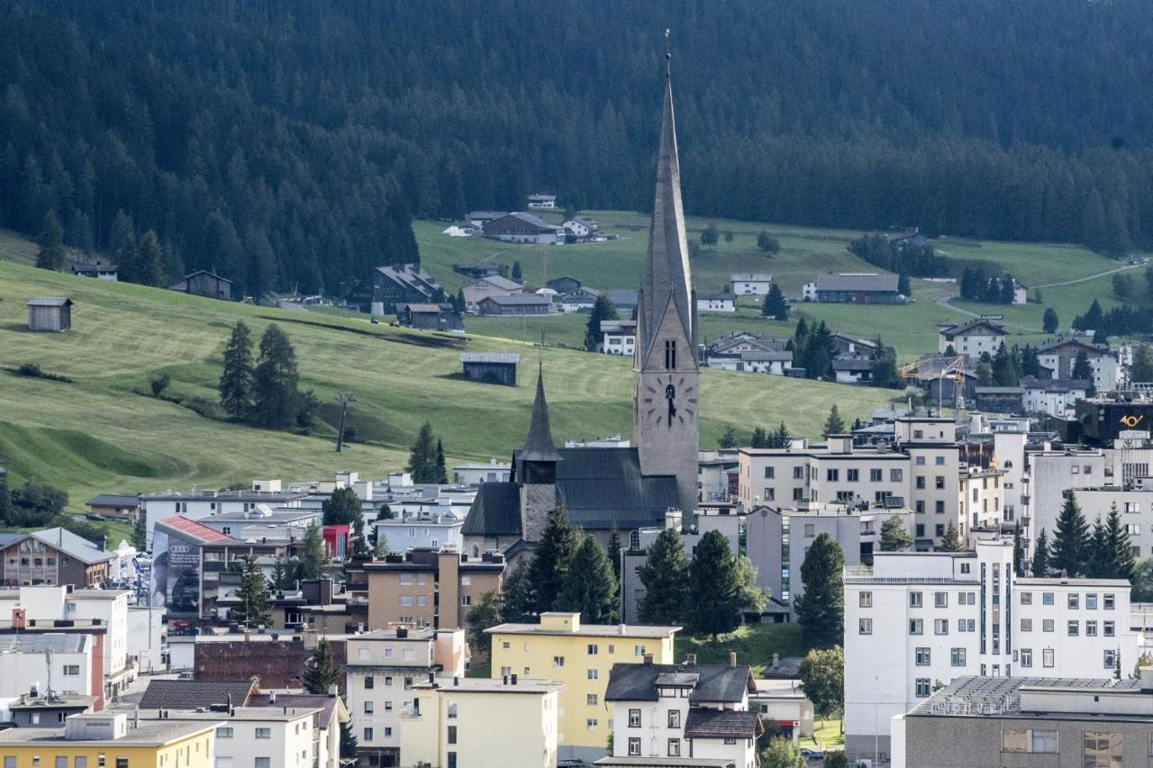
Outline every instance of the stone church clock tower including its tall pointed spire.
<path fill-rule="evenodd" d="M 666 68 L 653 221 L 636 306 L 633 442 L 642 473 L 677 476 L 686 519 L 698 500 L 699 378 L 696 295 L 688 271 L 672 80 Z"/>

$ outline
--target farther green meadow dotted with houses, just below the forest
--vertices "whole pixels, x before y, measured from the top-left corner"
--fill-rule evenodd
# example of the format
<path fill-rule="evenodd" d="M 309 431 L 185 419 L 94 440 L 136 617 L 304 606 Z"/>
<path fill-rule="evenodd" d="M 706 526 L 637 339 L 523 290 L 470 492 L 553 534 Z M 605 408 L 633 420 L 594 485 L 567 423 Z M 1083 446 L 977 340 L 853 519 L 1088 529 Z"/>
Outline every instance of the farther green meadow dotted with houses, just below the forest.
<path fill-rule="evenodd" d="M 606 232 L 621 235 L 620 240 L 579 246 L 511 246 L 491 240 L 447 238 L 440 234 L 443 223 L 415 223 L 416 236 L 424 265 L 455 291 L 464 281 L 452 272 L 453 263 L 472 263 L 487 258 L 511 264 L 519 261 L 525 280 L 532 286 L 543 285 L 548 278 L 571 274 L 596 288 L 635 287 L 640 280 L 647 243 L 648 220 L 639 213 L 593 211 Z M 558 220 L 558 214 L 551 214 Z M 688 219 L 689 238 L 698 238 L 708 219 Z M 722 231 L 733 233 L 733 242 L 722 242 L 713 250 L 704 249 L 693 261 L 693 278 L 700 291 L 719 291 L 733 272 L 771 272 L 789 295 L 799 295 L 800 286 L 820 272 L 875 271 L 875 268 L 854 257 L 845 246 L 858 233 L 837 229 L 789 227 L 747 221 L 716 220 Z M 782 250 L 773 258 L 756 250 L 756 235 L 768 229 L 777 235 Z M 939 246 L 949 257 L 986 259 L 1001 264 L 1030 286 L 1079 279 L 1121 266 L 1117 262 L 1092 254 L 1076 246 L 1052 243 L 982 242 L 979 248 L 955 246 L 948 240 Z M 1141 280 L 1140 270 L 1130 272 Z M 1010 331 L 1019 342 L 1042 338 L 1041 315 L 1046 307 L 1056 309 L 1062 326 L 1088 309 L 1093 299 L 1108 309 L 1117 302 L 1111 296 L 1110 277 L 1053 288 L 1042 288 L 1043 304 L 1005 307 L 954 302 L 975 314 L 1004 315 Z M 1139 286 L 1141 284 L 1139 283 Z M 955 285 L 913 280 L 914 303 L 906 307 L 857 307 L 836 304 L 804 304 L 802 314 L 809 319 L 824 319 L 835 330 L 859 336 L 881 334 L 897 348 L 902 357 L 915 357 L 921 352 L 936 348 L 936 324 L 941 321 L 963 319 L 965 315 L 937 306 L 936 300 L 952 295 Z M 713 339 L 732 330 L 761 333 L 791 332 L 796 319 L 789 323 L 766 321 L 751 300 L 736 315 L 702 314 L 701 334 Z M 544 318 L 469 318 L 468 327 L 477 333 L 504 336 L 515 339 L 540 339 L 544 331 L 550 344 L 579 346 L 583 339 L 585 317 Z"/>

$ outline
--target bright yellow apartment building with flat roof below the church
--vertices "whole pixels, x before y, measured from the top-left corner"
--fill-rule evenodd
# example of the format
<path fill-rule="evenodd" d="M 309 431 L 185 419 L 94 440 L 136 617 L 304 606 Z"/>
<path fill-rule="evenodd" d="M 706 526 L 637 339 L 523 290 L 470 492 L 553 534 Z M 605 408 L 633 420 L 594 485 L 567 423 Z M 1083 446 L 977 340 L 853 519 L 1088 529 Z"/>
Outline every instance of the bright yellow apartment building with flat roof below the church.
<path fill-rule="evenodd" d="M 613 664 L 673 661 L 679 626 L 582 625 L 580 613 L 541 615 L 540 624 L 500 624 L 492 635 L 492 677 L 518 675 L 564 686 L 557 721 L 560 759 L 596 760 L 611 733 L 604 692 Z"/>

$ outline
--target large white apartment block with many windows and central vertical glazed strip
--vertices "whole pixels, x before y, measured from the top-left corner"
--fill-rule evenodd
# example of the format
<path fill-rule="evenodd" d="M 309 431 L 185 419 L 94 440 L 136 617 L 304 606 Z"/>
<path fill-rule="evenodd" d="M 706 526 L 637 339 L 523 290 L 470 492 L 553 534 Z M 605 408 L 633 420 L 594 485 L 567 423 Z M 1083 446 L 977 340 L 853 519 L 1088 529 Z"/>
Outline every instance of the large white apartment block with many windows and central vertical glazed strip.
<path fill-rule="evenodd" d="M 845 571 L 845 745 L 888 753 L 889 722 L 965 675 L 1105 677 L 1138 657 L 1128 581 L 1018 579 L 1012 542 L 877 552 Z"/>

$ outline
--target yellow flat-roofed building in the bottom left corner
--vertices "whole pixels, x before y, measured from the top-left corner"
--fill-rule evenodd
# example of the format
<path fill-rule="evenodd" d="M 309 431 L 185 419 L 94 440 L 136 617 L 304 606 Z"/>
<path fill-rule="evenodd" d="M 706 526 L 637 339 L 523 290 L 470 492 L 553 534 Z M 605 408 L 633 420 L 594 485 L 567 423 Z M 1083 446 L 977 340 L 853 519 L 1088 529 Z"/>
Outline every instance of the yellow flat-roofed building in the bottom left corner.
<path fill-rule="evenodd" d="M 65 730 L 0 732 L 5 768 L 213 768 L 219 723 L 141 721 L 123 713 L 71 715 Z"/>

